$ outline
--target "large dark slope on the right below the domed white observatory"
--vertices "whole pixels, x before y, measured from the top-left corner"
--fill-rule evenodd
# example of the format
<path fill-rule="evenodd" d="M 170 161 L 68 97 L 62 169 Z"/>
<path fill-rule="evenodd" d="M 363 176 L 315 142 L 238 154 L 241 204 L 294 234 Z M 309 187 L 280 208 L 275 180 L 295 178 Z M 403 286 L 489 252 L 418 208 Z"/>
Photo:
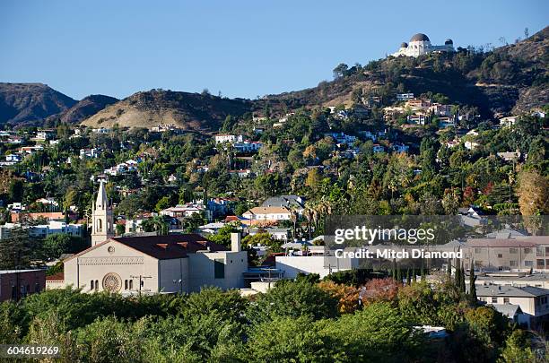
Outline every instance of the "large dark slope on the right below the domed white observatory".
<path fill-rule="evenodd" d="M 548 60 L 549 27 L 492 52 L 461 48 L 451 55 L 388 57 L 364 67 L 353 66 L 335 81 L 268 95 L 262 102 L 274 109 L 350 106 L 363 96 L 387 98 L 398 90 L 415 94 L 431 91 L 448 96 L 452 102 L 475 106 L 484 117 L 492 117 L 494 113 L 523 112 L 549 103 Z"/>

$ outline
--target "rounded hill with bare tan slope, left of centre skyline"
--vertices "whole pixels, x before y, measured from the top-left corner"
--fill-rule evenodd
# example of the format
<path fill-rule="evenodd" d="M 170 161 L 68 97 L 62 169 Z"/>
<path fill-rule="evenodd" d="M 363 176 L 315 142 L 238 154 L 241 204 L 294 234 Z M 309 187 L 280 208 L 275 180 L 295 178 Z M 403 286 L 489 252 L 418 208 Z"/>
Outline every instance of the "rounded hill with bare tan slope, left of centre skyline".
<path fill-rule="evenodd" d="M 209 94 L 152 90 L 137 92 L 83 121 L 92 127 L 177 125 L 186 130 L 217 130 L 228 115 L 241 116 L 250 108 L 246 99 L 223 99 Z"/>

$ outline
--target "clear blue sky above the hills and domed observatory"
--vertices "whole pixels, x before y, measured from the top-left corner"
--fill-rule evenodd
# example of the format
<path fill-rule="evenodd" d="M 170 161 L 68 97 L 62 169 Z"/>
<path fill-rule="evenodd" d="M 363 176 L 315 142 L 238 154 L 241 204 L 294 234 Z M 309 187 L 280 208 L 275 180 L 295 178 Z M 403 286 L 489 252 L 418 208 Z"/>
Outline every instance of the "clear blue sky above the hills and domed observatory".
<path fill-rule="evenodd" d="M 499 46 L 543 29 L 548 14 L 546 0 L 2 0 L 0 82 L 43 82 L 74 99 L 152 88 L 253 99 L 316 86 L 416 32 Z"/>

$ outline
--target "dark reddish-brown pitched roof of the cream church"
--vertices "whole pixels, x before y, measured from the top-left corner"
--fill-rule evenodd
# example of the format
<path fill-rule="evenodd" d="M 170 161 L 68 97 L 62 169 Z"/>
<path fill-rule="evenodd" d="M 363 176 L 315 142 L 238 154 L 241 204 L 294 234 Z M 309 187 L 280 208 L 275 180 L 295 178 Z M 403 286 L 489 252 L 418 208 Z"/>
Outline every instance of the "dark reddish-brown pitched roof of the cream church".
<path fill-rule="evenodd" d="M 133 248 L 144 255 L 150 255 L 158 260 L 170 260 L 172 258 L 185 258 L 187 254 L 194 254 L 197 251 L 229 251 L 225 246 L 218 245 L 195 233 L 167 235 L 167 236 L 143 236 L 143 237 L 115 237 L 92 246 L 79 254 L 76 254 L 64 262 L 86 254 L 99 246 L 111 241 Z"/>

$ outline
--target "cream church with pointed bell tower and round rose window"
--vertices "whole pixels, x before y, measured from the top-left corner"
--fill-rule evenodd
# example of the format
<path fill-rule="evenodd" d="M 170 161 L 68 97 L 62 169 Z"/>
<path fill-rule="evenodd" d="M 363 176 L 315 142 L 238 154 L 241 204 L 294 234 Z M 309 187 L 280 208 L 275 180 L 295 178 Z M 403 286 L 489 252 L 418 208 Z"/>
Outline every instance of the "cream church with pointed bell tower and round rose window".
<path fill-rule="evenodd" d="M 122 295 L 187 293 L 204 286 L 223 290 L 244 287 L 248 254 L 240 233 L 231 249 L 198 234 L 114 237 L 112 207 L 103 182 L 92 212 L 92 246 L 64 261 L 64 272 L 47 287 L 73 286 L 83 292 Z"/>

